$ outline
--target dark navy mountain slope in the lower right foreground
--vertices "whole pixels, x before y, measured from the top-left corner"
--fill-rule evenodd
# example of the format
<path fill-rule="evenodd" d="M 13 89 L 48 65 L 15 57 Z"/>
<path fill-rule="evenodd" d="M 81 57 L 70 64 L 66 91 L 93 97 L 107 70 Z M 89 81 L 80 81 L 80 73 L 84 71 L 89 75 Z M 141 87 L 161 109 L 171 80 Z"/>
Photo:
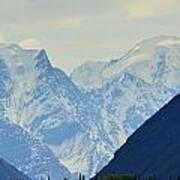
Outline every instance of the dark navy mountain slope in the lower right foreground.
<path fill-rule="evenodd" d="M 107 174 L 180 177 L 180 95 L 147 120 L 115 153 L 98 176 Z"/>

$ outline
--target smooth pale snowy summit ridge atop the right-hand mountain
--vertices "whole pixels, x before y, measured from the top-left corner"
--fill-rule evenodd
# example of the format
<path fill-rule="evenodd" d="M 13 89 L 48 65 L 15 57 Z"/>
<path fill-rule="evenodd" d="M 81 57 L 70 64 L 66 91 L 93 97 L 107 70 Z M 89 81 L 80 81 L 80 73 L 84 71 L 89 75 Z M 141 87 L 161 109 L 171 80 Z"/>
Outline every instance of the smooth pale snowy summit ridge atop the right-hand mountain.
<path fill-rule="evenodd" d="M 178 49 L 180 49 L 180 37 L 178 36 L 163 35 L 147 38 L 135 44 L 127 53 L 114 61 L 104 62 L 104 64 L 98 62 L 84 63 L 73 71 L 71 77 L 76 85 L 87 90 L 100 88 L 104 81 L 127 70 L 133 71 L 133 74 L 151 82 L 152 76 L 147 72 L 156 68 L 155 66 L 158 64 L 156 60 L 159 57 L 161 59 L 162 57 L 166 58 L 169 53 L 171 56 L 175 55 L 178 53 Z M 173 59 L 175 58 L 173 57 Z"/>

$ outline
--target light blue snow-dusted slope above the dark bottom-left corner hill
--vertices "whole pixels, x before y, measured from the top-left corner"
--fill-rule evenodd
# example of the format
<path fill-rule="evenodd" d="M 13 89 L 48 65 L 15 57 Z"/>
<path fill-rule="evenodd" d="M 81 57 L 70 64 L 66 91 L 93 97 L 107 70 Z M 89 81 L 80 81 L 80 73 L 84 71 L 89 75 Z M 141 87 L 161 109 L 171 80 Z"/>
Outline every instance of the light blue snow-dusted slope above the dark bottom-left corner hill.
<path fill-rule="evenodd" d="M 11 162 L 18 170 L 39 180 L 48 175 L 51 179 L 70 177 L 53 153 L 21 127 L 0 120 L 0 157 Z"/>

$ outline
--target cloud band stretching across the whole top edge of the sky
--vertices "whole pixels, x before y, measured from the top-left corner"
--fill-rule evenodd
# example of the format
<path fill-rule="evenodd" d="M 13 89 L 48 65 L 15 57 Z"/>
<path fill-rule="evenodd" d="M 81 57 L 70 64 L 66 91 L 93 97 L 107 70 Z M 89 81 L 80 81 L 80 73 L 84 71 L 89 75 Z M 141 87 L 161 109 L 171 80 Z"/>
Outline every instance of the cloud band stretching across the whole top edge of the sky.
<path fill-rule="evenodd" d="M 39 21 L 65 19 L 68 26 L 71 17 L 92 17 L 118 11 L 132 18 L 156 17 L 180 9 L 179 0 L 0 0 L 0 25 L 29 24 Z M 11 13 L 9 13 L 11 9 Z M 77 26 L 79 20 L 73 19 Z M 56 24 L 56 23 L 54 23 Z M 60 23 L 59 26 L 67 26 Z"/>

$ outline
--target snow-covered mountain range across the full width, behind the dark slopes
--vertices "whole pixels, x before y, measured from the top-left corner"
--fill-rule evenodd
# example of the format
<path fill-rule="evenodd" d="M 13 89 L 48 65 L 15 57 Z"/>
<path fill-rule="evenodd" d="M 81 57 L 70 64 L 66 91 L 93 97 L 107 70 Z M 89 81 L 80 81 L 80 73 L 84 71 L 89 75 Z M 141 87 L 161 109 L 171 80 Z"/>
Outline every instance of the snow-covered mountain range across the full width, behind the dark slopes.
<path fill-rule="evenodd" d="M 50 64 L 44 50 L 1 44 L 0 119 L 35 139 L 32 152 L 43 147 L 58 161 L 52 176 L 60 167 L 63 176 L 70 176 L 68 169 L 73 177 L 92 177 L 180 93 L 179 62 L 180 38 L 162 36 L 138 43 L 120 59 L 86 63 L 69 77 Z M 32 167 L 23 172 L 47 174 L 47 166 L 36 173 Z"/>

